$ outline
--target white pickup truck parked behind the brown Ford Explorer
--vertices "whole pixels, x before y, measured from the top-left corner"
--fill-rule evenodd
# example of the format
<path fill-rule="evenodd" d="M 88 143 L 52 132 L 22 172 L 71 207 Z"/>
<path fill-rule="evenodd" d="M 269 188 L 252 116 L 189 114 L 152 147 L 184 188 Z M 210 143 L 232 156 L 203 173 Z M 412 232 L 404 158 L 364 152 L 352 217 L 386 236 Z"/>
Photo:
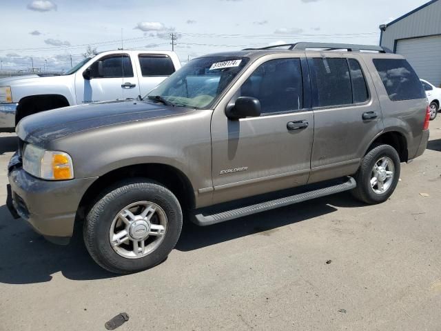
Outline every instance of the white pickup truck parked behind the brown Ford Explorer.
<path fill-rule="evenodd" d="M 20 119 L 43 110 L 143 96 L 179 68 L 174 52 L 112 50 L 60 76 L 0 79 L 0 132 L 14 130 Z"/>

